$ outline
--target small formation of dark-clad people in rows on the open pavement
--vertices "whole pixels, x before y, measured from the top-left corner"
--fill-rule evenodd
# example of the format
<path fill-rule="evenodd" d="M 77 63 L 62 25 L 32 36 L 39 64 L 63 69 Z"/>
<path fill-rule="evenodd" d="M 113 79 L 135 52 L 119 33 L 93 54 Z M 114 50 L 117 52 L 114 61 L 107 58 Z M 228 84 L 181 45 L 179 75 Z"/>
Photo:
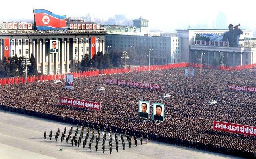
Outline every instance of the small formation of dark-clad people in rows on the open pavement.
<path fill-rule="evenodd" d="M 90 131 L 89 131 L 90 129 Z M 57 142 L 58 137 L 60 136 L 60 141 L 63 142 L 64 137 L 66 137 L 66 144 L 68 144 L 70 138 L 71 138 L 71 144 L 72 146 L 75 144 L 75 146 L 80 146 L 81 142 L 83 142 L 83 148 L 85 148 L 85 145 L 87 144 L 87 140 L 90 136 L 90 142 L 89 142 L 89 149 L 91 150 L 92 147 L 92 143 L 94 140 L 94 125 L 91 125 L 89 128 L 89 124 L 87 124 L 87 127 L 85 128 L 85 138 L 84 140 L 82 140 L 83 135 L 84 135 L 84 125 L 81 126 L 81 132 L 80 135 L 79 134 L 79 126 L 77 124 L 77 128 L 75 129 L 75 134 L 73 135 L 73 138 L 71 138 L 71 135 L 73 133 L 73 127 L 71 126 L 69 133 L 67 135 L 67 129 L 66 127 L 63 130 L 62 135 L 60 136 L 60 129 L 58 128 L 58 131 L 56 131 L 55 134 L 55 141 Z M 90 135 L 91 134 L 91 135 Z M 106 127 L 103 128 L 103 133 L 102 133 L 103 137 L 102 137 L 102 151 L 103 153 L 105 152 L 105 140 L 106 140 Z M 123 150 L 125 150 L 125 140 L 124 140 L 124 136 L 127 138 L 127 142 L 129 144 L 129 148 L 131 148 L 131 141 L 134 139 L 135 140 L 135 146 L 137 146 L 137 137 L 135 135 L 135 133 L 133 133 L 133 135 L 130 137 L 129 132 L 127 132 L 127 130 L 125 131 L 125 134 L 123 134 L 123 131 L 121 131 L 120 137 L 121 137 L 121 142 L 122 142 L 122 146 L 123 146 Z M 78 137 L 79 136 L 79 137 Z M 109 127 L 109 151 L 110 154 L 112 152 L 112 130 L 111 127 Z M 100 141 L 100 127 L 97 125 L 97 134 L 96 134 L 96 144 L 95 144 L 95 149 L 96 151 L 98 150 L 98 146 L 99 146 L 99 141 Z M 52 140 L 52 130 L 49 133 L 49 138 L 50 140 Z M 44 139 L 46 139 L 46 131 L 44 131 Z M 114 138 L 113 140 L 115 140 L 115 146 L 116 146 L 116 152 L 118 152 L 118 137 L 117 137 L 117 130 L 115 130 L 115 134 L 114 134 Z M 120 140 L 119 140 L 120 141 Z M 142 144 L 143 141 L 143 136 L 141 135 L 140 137 L 140 141 Z M 148 138 L 147 138 L 147 143 L 148 143 Z"/>

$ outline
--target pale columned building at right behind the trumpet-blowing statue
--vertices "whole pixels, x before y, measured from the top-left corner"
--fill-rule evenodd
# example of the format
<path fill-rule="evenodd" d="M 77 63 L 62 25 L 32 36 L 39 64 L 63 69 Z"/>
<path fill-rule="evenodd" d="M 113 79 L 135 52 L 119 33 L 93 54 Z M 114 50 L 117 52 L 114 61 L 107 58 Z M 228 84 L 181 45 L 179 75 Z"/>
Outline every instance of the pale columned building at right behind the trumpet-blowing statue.
<path fill-rule="evenodd" d="M 212 65 L 214 60 L 222 61 L 223 56 L 227 57 L 227 65 L 246 65 L 256 63 L 256 48 L 243 46 L 243 41 L 248 38 L 253 37 L 252 30 L 243 30 L 243 34 L 240 35 L 240 47 L 229 47 L 222 43 L 218 43 L 216 46 L 215 42 L 208 41 L 209 44 L 204 41 L 204 43 L 196 43 L 196 34 L 218 34 L 221 35 L 228 30 L 224 29 L 186 29 L 186 30 L 176 30 L 177 37 L 181 38 L 181 61 L 183 62 L 194 62 L 196 57 L 200 57 L 202 53 L 204 61 L 207 64 Z M 214 43 L 211 45 L 210 43 Z M 222 53 L 221 53 L 222 52 Z"/>

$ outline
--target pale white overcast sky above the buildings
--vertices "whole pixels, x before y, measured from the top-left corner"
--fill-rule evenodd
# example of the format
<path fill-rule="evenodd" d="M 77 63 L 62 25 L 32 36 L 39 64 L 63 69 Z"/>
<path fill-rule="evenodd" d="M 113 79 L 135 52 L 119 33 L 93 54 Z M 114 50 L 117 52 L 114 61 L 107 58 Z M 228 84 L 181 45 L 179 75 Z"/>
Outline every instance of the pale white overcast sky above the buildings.
<path fill-rule="evenodd" d="M 8 0 L 1 2 L 0 21 L 7 19 L 33 19 L 33 9 L 46 9 L 55 14 L 84 16 L 87 13 L 100 19 L 123 14 L 137 19 L 142 14 L 149 20 L 150 29 L 173 31 L 197 25 L 211 26 L 218 13 L 227 17 L 227 25 L 241 24 L 241 28 L 254 30 L 256 1 L 246 0 Z"/>

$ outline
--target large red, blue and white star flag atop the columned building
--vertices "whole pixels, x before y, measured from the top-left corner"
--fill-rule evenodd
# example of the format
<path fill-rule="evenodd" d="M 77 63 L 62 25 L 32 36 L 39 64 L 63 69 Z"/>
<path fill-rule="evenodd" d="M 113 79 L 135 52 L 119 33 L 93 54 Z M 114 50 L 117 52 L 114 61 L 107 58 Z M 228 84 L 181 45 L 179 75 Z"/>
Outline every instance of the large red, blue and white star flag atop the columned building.
<path fill-rule="evenodd" d="M 35 25 L 37 30 L 65 30 L 66 16 L 56 15 L 50 11 L 44 9 L 35 9 Z"/>

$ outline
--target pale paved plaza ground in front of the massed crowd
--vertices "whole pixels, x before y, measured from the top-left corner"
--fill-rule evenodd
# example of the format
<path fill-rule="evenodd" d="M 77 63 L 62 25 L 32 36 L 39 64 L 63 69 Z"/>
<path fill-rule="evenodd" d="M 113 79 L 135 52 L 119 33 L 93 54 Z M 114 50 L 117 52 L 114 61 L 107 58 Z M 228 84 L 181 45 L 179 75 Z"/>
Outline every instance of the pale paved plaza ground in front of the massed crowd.
<path fill-rule="evenodd" d="M 61 143 L 60 136 L 57 142 L 55 142 L 54 136 L 57 129 L 60 128 L 60 132 L 63 132 L 64 127 L 66 127 L 67 132 L 69 132 L 71 126 L 73 126 L 73 133 L 71 135 L 71 137 L 73 137 L 76 125 L 60 123 L 51 120 L 45 120 L 42 118 L 15 114 L 11 112 L 4 112 L 3 110 L 0 110 L 0 159 L 237 158 L 229 155 L 164 144 L 151 140 L 148 144 L 146 144 L 146 140 L 143 140 L 143 144 L 141 145 L 138 139 L 137 147 L 135 147 L 135 143 L 133 141 L 131 144 L 131 148 L 129 148 L 128 143 L 125 142 L 125 150 L 122 149 L 122 144 L 121 142 L 119 142 L 118 152 L 116 152 L 115 150 L 115 141 L 112 141 L 111 155 L 109 153 L 108 137 L 106 138 L 105 142 L 105 153 L 102 152 L 102 137 L 100 138 L 97 152 L 95 150 L 96 137 L 94 138 L 94 142 L 92 143 L 91 150 L 89 150 L 88 140 L 85 148 L 83 148 L 82 144 L 80 144 L 80 147 L 75 146 L 75 144 L 74 146 L 72 146 L 71 139 L 68 144 L 66 144 L 65 138 L 63 143 Z M 50 130 L 53 131 L 51 141 L 49 139 Z M 46 131 L 46 139 L 43 138 L 44 131 Z M 79 131 L 79 133 L 80 132 L 81 130 Z M 114 137 L 114 135 L 112 135 L 112 137 Z M 64 151 L 60 151 L 60 148 L 64 148 Z"/>

